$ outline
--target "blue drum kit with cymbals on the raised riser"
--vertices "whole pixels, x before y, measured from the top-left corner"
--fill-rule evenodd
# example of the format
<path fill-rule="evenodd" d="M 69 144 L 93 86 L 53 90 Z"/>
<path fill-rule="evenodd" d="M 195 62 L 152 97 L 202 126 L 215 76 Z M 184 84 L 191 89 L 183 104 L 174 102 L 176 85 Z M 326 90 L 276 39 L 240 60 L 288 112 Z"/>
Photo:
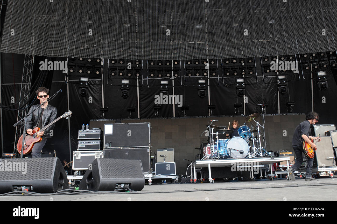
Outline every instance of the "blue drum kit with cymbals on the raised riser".
<path fill-rule="evenodd" d="M 226 134 L 229 136 L 229 134 L 234 133 L 234 130 L 223 129 L 222 127 L 212 125 L 214 121 L 217 121 L 212 120 L 206 128 L 206 130 L 209 130 L 210 141 L 203 147 L 202 159 L 242 159 L 269 156 L 261 142 L 261 136 L 265 140 L 264 135 L 261 132 L 261 128 L 264 132 L 264 126 L 255 120 L 259 116 L 259 113 L 254 113 L 247 117 L 245 116 L 244 125 L 238 128 L 239 136 L 231 139 L 219 139 L 219 134 Z M 254 133 L 256 133 L 256 136 Z"/>

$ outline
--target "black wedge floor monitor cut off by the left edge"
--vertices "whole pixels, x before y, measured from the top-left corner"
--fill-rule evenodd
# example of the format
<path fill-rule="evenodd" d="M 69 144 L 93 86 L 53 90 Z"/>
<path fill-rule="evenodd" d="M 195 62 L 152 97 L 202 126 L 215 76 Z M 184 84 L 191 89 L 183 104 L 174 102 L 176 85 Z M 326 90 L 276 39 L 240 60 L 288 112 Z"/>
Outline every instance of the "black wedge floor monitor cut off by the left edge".
<path fill-rule="evenodd" d="M 11 191 L 55 193 L 69 189 L 67 175 L 58 157 L 0 160 L 0 193 Z"/>

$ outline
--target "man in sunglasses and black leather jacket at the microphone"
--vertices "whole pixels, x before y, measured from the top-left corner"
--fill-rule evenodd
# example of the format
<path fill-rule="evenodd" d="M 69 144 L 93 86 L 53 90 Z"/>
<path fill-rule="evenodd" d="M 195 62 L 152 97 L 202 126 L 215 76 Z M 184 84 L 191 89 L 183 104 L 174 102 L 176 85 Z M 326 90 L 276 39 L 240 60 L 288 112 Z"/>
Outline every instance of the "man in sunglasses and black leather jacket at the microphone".
<path fill-rule="evenodd" d="M 37 95 L 37 99 L 40 100 L 40 104 L 43 104 L 39 109 L 35 110 L 32 114 L 30 114 L 27 117 L 27 126 L 26 126 L 26 132 L 28 135 L 33 135 L 33 129 L 35 127 L 39 127 L 42 129 L 42 127 L 48 125 L 52 121 L 55 120 L 57 115 L 57 109 L 50 104 L 48 104 L 48 98 L 49 98 L 49 89 L 45 87 L 39 87 L 35 91 Z M 36 107 L 39 105 L 34 105 L 29 109 L 28 113 L 31 113 Z M 51 138 L 49 136 L 49 132 L 53 130 L 55 124 L 51 125 L 47 129 L 45 129 L 43 132 L 37 132 L 37 136 L 41 137 L 42 140 L 40 142 L 37 142 L 34 144 L 34 147 L 32 149 L 32 157 L 33 158 L 39 158 L 41 157 L 41 150 L 43 146 L 45 145 L 45 142 L 47 141 L 47 138 Z"/>

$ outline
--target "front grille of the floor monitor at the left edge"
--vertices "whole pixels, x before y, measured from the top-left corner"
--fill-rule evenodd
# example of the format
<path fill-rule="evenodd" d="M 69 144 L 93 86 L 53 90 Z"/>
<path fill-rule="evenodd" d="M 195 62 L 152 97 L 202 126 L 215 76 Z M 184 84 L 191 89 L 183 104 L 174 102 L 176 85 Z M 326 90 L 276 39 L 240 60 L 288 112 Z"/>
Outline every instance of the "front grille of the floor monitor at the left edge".
<path fill-rule="evenodd" d="M 51 180 L 55 159 L 52 158 L 18 158 L 0 160 L 0 181 L 10 180 Z M 9 165 L 10 164 L 10 165 Z M 23 165 L 23 167 L 19 167 Z M 2 166 L 2 167 L 1 167 Z M 4 166 L 15 166 L 15 171 L 2 171 Z M 43 167 L 43 172 L 37 172 Z M 21 170 L 18 171 L 18 169 Z M 12 168 L 12 170 L 14 170 Z M 26 170 L 26 174 L 23 172 Z"/>

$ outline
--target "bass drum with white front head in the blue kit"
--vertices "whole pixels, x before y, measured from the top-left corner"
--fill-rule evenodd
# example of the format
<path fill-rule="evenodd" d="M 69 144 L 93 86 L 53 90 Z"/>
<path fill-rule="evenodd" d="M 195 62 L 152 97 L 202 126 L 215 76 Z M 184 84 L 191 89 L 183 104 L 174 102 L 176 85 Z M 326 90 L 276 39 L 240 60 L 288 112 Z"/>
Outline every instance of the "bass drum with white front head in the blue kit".
<path fill-rule="evenodd" d="M 242 137 L 233 137 L 225 143 L 227 152 L 232 158 L 243 159 L 249 153 L 249 144 Z"/>

